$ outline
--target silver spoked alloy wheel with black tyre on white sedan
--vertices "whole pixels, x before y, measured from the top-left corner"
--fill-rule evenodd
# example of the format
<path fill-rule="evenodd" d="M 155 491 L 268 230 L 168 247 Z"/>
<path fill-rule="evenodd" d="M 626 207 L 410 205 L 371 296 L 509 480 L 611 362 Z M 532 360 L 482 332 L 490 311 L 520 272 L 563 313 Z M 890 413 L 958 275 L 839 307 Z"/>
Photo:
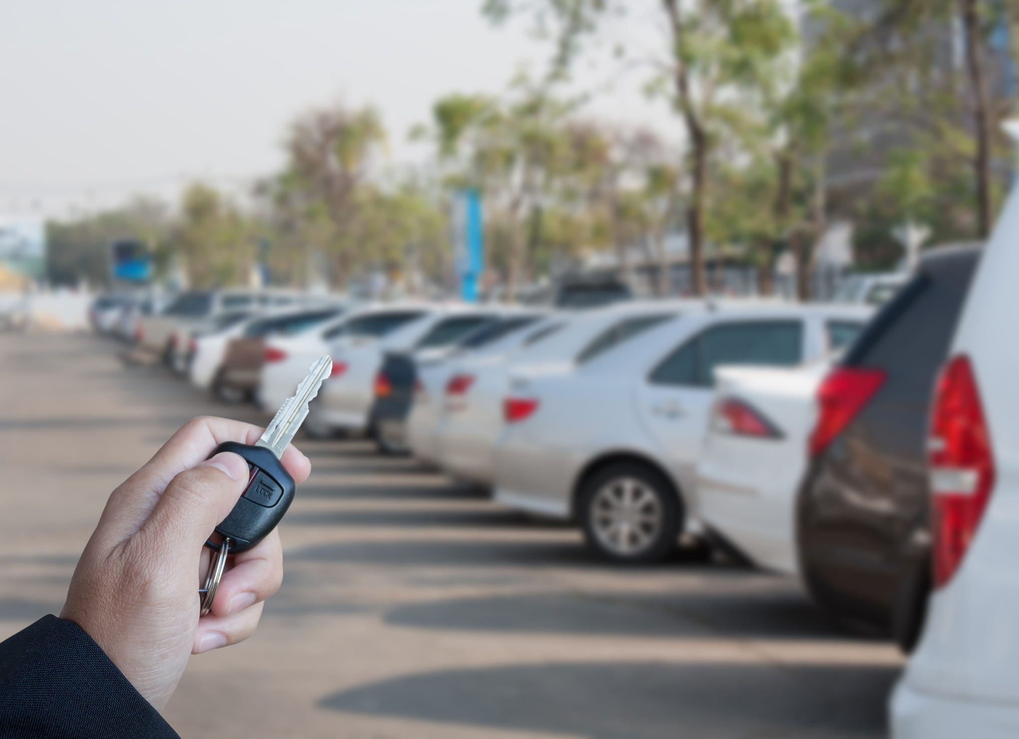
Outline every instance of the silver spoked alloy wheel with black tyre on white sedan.
<path fill-rule="evenodd" d="M 621 462 L 584 482 L 578 512 L 587 546 L 621 563 L 657 562 L 677 545 L 683 505 L 649 466 Z"/>

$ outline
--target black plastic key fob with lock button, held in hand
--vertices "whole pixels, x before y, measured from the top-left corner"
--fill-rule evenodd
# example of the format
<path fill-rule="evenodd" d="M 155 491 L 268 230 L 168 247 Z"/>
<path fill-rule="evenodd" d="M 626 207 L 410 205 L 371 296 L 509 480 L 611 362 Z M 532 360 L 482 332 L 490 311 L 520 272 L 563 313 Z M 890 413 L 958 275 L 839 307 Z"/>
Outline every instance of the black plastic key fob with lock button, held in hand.
<path fill-rule="evenodd" d="M 276 527 L 290 507 L 297 486 L 271 450 L 237 442 L 223 442 L 209 457 L 233 452 L 248 460 L 248 488 L 216 532 L 230 538 L 230 554 L 247 552 Z"/>

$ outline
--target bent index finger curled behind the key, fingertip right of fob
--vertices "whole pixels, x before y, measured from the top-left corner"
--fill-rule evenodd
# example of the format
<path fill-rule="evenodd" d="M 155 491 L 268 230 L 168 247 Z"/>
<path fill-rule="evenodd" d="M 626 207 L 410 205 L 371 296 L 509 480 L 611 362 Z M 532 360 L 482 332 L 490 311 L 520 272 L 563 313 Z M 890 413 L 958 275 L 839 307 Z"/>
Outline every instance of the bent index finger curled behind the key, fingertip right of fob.
<path fill-rule="evenodd" d="M 128 477 L 110 496 L 104 517 L 116 509 L 116 517 L 129 521 L 135 529 L 148 518 L 170 480 L 185 469 L 204 461 L 219 444 L 240 442 L 255 444 L 264 429 L 230 418 L 202 415 L 192 418 L 170 437 L 152 459 Z M 296 447 L 288 445 L 280 458 L 283 468 L 296 484 L 304 482 L 311 472 L 311 462 Z"/>

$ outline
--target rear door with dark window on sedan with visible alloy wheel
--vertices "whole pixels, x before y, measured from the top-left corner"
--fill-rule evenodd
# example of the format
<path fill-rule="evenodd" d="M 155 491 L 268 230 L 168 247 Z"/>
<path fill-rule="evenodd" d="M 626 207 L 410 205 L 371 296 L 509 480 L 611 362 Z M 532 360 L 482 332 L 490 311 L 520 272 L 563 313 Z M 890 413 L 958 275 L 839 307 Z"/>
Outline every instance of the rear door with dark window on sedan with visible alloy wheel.
<path fill-rule="evenodd" d="M 799 364 L 805 333 L 795 318 L 717 321 L 684 340 L 641 380 L 638 412 L 688 496 L 714 401 L 715 367 Z"/>

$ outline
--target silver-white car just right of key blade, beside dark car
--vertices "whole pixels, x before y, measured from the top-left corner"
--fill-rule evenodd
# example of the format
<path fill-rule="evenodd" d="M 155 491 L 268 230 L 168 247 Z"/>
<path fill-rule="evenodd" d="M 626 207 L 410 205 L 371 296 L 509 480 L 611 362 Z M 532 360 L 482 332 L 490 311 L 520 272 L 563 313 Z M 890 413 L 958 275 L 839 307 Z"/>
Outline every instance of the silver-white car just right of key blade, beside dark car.
<path fill-rule="evenodd" d="M 392 390 L 388 379 L 379 375 L 386 353 L 442 352 L 497 315 L 492 307 L 459 303 L 433 304 L 419 312 L 415 320 L 377 339 L 340 336 L 332 346 L 332 376 L 322 384 L 306 425 L 311 421 L 317 431 L 378 439 L 371 409 L 377 396 Z"/>

